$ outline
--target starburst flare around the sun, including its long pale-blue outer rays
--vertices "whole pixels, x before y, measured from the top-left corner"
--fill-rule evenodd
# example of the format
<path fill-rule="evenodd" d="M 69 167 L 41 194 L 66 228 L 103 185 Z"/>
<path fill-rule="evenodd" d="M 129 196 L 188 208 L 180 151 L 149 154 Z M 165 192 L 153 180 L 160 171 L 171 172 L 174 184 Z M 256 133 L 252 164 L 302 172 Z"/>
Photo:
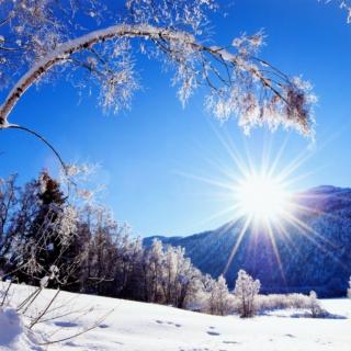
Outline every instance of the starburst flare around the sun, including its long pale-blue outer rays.
<path fill-rule="evenodd" d="M 250 241 L 253 250 L 260 238 L 269 239 L 283 278 L 284 268 L 279 241 L 285 241 L 287 249 L 293 252 L 296 250 L 293 235 L 303 235 L 322 251 L 335 250 L 331 242 L 305 223 L 306 215 L 315 214 L 313 202 L 320 197 L 317 194 L 297 191 L 298 182 L 317 171 L 315 169 L 308 173 L 299 172 L 302 165 L 314 156 L 317 149 L 307 146 L 291 162 L 282 165 L 287 138 L 281 143 L 276 155 L 271 155 L 271 141 L 265 140 L 261 147 L 260 160 L 257 146 L 250 150 L 245 145 L 244 150 L 239 151 L 228 134 L 216 132 L 216 135 L 229 157 L 224 160 L 218 157 L 205 160 L 218 171 L 218 176 L 205 177 L 204 172 L 201 174 L 180 172 L 180 174 L 214 188 L 215 191 L 210 193 L 211 199 L 223 202 L 223 208 L 206 216 L 200 225 L 225 218 L 223 220 L 227 223 L 220 227 L 219 233 L 236 229 L 233 231 L 236 241 L 223 274 L 230 268 L 247 235 L 254 239 Z M 332 138 L 327 140 L 322 147 L 331 140 Z M 318 213 L 321 214 L 322 211 L 318 210 Z"/>

